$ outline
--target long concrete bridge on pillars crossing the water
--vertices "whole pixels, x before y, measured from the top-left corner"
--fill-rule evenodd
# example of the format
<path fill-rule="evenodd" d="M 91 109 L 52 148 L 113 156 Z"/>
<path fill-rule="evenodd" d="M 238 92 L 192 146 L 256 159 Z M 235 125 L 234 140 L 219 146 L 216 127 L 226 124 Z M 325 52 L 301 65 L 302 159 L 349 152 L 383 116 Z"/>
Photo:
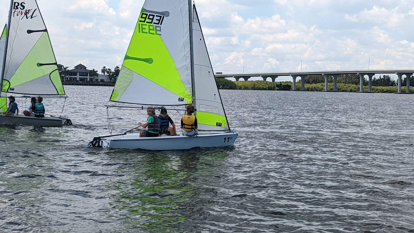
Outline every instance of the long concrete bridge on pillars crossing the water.
<path fill-rule="evenodd" d="M 309 75 L 322 75 L 325 77 L 325 91 L 332 91 L 328 90 L 328 79 L 330 76 L 333 78 L 334 82 L 334 90 L 333 92 L 337 92 L 337 79 L 339 75 L 345 74 L 353 74 L 359 75 L 360 82 L 359 82 L 359 92 L 363 92 L 363 79 L 365 76 L 368 76 L 368 92 L 372 92 L 372 77 L 375 74 L 396 74 L 398 76 L 398 92 L 399 94 L 405 94 L 401 92 L 401 83 L 403 76 L 407 77 L 407 93 L 410 93 L 410 79 L 409 77 L 414 74 L 414 69 L 386 69 L 386 70 L 316 70 L 316 71 L 296 71 L 296 72 L 264 72 L 264 73 L 221 73 L 217 72 L 214 76 L 216 78 L 235 78 L 236 81 L 243 78 L 243 80 L 247 81 L 252 77 L 261 77 L 263 80 L 267 80 L 267 78 L 271 78 L 272 82 L 276 80 L 276 78 L 280 76 L 291 76 L 293 78 L 293 87 L 292 90 L 296 90 L 296 78 L 301 78 L 301 90 L 305 90 L 305 79 Z"/>

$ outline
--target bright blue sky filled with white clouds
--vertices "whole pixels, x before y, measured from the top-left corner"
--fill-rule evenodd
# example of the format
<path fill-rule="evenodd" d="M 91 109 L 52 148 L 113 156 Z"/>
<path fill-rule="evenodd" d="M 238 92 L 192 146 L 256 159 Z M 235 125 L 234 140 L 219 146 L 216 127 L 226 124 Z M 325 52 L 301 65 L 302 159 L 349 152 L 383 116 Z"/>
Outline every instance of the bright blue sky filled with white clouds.
<path fill-rule="evenodd" d="M 58 63 L 101 70 L 122 63 L 143 2 L 38 0 L 38 5 Z M 245 72 L 367 69 L 368 60 L 371 69 L 414 68 L 414 0 L 195 4 L 214 72 L 242 73 L 243 66 Z M 8 8 L 0 5 L 4 22 Z"/>

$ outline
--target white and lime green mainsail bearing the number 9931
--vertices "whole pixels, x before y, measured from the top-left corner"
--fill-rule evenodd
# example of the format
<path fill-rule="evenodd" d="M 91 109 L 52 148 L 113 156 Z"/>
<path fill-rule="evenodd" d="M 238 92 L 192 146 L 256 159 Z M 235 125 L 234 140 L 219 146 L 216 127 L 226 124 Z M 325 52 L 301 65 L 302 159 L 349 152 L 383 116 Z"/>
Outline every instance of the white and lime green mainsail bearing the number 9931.
<path fill-rule="evenodd" d="M 148 105 L 192 102 L 188 1 L 146 0 L 111 101 Z"/>

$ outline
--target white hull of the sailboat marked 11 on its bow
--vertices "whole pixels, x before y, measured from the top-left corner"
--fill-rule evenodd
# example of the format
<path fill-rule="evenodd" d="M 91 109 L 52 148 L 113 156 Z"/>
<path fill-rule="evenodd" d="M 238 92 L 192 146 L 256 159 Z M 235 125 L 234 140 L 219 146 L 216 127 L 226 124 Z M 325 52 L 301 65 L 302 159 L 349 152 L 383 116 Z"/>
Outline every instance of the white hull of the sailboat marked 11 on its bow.
<path fill-rule="evenodd" d="M 197 137 L 164 136 L 140 138 L 139 133 L 102 139 L 103 148 L 142 150 L 188 150 L 191 148 L 224 148 L 233 146 L 238 133 L 199 134 Z"/>

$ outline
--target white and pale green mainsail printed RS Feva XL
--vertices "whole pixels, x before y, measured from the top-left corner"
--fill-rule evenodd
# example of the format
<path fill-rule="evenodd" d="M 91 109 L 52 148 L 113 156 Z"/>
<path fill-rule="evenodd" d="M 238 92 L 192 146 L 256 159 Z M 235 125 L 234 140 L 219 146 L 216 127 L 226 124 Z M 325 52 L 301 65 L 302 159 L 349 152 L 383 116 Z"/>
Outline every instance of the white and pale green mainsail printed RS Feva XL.
<path fill-rule="evenodd" d="M 65 95 L 46 25 L 36 0 L 13 0 L 2 90 Z"/>

